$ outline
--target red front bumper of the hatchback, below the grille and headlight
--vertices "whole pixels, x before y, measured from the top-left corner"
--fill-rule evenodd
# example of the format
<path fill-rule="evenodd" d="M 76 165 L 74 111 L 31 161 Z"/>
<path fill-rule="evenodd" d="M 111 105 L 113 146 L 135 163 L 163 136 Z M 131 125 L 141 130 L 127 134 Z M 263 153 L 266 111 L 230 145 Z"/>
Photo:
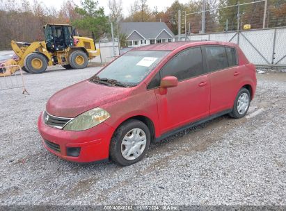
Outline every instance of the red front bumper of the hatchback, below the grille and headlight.
<path fill-rule="evenodd" d="M 38 117 L 38 130 L 43 138 L 45 148 L 65 160 L 74 162 L 93 162 L 109 158 L 109 143 L 114 129 L 102 122 L 84 131 L 67 131 L 51 128 L 44 124 L 42 112 Z M 59 151 L 54 150 L 46 142 L 57 144 Z M 67 155 L 67 147 L 80 147 L 78 157 Z"/>

